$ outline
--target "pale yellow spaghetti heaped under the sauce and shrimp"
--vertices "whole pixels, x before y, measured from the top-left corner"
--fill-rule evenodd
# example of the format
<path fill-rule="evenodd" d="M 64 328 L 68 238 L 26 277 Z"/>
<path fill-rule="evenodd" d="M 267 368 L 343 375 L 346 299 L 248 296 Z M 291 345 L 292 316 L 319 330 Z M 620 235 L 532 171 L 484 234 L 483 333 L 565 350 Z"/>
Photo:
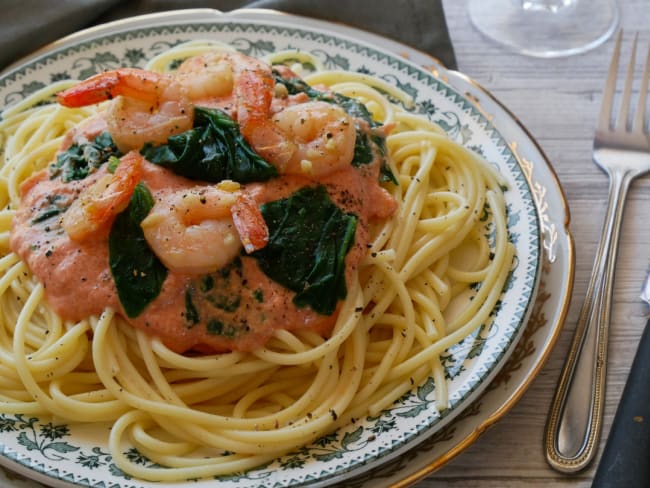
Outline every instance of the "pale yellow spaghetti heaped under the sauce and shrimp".
<path fill-rule="evenodd" d="M 165 72 L 212 49 L 181 45 L 147 69 Z M 311 65 L 309 85 L 358 100 L 394 127 L 386 145 L 397 184 L 386 188 L 399 206 L 372 224 L 331 334 L 278 329 L 252 351 L 193 355 L 174 352 L 110 308 L 78 321 L 57 315 L 9 241 L 21 182 L 47 167 L 65 135 L 99 110 L 43 103 L 72 85 L 63 82 L 6 109 L 0 122 L 1 412 L 113 422 L 116 465 L 134 477 L 172 481 L 270 462 L 377 415 L 428 377 L 438 408 L 446 407 L 440 355 L 489 320 L 514 256 L 501 176 L 409 112 L 409 96 L 381 80 L 327 71 L 304 53 L 268 61 Z M 156 466 L 133 462 L 125 444 Z"/>

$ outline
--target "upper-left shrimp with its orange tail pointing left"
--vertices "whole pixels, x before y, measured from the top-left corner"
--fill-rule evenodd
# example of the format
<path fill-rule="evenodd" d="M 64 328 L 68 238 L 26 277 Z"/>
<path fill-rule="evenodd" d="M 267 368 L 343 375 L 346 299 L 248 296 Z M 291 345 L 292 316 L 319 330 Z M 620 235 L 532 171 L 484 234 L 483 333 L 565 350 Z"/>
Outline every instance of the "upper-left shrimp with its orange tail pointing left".
<path fill-rule="evenodd" d="M 192 128 L 194 110 L 183 85 L 174 77 L 136 68 L 107 71 L 60 92 L 66 107 L 112 100 L 106 123 L 122 152 L 145 143 L 162 144 Z"/>

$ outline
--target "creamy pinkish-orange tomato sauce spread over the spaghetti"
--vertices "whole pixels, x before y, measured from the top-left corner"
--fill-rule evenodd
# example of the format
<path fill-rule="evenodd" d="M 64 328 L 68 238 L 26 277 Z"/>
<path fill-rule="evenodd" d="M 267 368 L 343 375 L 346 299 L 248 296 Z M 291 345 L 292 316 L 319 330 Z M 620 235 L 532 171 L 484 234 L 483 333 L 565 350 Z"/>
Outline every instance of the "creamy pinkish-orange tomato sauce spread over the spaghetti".
<path fill-rule="evenodd" d="M 131 325 L 155 335 L 177 352 L 249 351 L 261 347 L 276 329 L 308 328 L 327 335 L 338 316 L 298 308 L 295 294 L 274 282 L 257 260 L 242 254 L 225 268 L 206 275 L 170 271 L 160 294 L 135 318 L 126 318 L 109 268 L 105 231 L 82 242 L 72 241 L 61 227 L 62 212 L 84 188 L 106 173 L 106 167 L 79 181 L 63 183 L 41 171 L 22 187 L 21 206 L 12 225 L 11 248 L 43 284 L 50 306 L 64 319 L 78 321 L 106 307 Z M 368 223 L 386 218 L 396 203 L 378 181 L 379 162 L 349 166 L 322 179 L 330 198 L 359 217 L 355 243 L 346 257 L 347 281 L 366 252 Z M 198 184 L 145 162 L 142 183 L 155 198 Z M 284 176 L 245 187 L 258 204 L 286 198 L 317 183 Z M 48 217 L 48 212 L 53 215 Z M 58 213 L 57 213 L 58 212 Z"/>

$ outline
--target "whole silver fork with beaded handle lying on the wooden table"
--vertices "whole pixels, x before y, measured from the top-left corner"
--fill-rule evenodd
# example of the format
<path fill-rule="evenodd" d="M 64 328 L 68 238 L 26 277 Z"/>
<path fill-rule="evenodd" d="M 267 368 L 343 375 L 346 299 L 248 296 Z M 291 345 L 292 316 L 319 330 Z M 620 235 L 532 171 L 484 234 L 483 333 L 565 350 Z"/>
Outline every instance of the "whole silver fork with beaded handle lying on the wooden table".
<path fill-rule="evenodd" d="M 650 171 L 650 135 L 646 112 L 650 49 L 632 119 L 630 98 L 635 71 L 635 36 L 620 110 L 613 122 L 621 39 L 622 32 L 619 32 L 593 145 L 594 162 L 609 176 L 607 213 L 585 301 L 546 425 L 546 459 L 552 468 L 564 473 L 587 467 L 598 449 L 605 400 L 614 267 L 625 198 L 632 180 Z"/>

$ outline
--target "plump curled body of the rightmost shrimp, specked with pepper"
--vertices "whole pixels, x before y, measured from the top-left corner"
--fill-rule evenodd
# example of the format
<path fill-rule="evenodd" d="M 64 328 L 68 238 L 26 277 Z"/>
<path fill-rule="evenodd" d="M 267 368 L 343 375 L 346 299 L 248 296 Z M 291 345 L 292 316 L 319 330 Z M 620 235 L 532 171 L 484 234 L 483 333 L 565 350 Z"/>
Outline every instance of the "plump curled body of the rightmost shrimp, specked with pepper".
<path fill-rule="evenodd" d="M 317 179 L 352 163 L 356 128 L 341 107 L 327 102 L 289 105 L 272 120 L 293 143 L 285 173 Z"/>

